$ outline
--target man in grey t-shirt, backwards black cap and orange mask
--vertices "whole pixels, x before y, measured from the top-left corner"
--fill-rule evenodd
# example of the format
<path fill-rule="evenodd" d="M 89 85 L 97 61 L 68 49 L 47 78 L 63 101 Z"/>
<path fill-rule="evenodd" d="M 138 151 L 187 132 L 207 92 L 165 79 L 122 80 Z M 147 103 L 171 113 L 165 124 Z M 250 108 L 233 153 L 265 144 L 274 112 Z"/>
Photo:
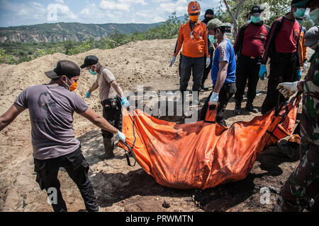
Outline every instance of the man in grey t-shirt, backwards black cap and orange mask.
<path fill-rule="evenodd" d="M 54 71 L 45 74 L 51 79 L 50 83 L 23 90 L 13 106 L 0 117 L 0 131 L 9 126 L 18 114 L 28 109 L 36 181 L 41 190 L 47 191 L 48 196 L 52 191 L 56 192 L 57 197 L 51 202 L 53 210 L 67 211 L 57 179 L 60 167 L 64 167 L 77 184 L 86 210 L 98 211 L 94 189 L 87 176 L 89 164 L 82 155 L 80 142 L 74 135 L 73 114 L 77 112 L 101 129 L 116 134 L 123 142 L 125 135 L 93 112 L 81 97 L 72 93 L 77 88 L 80 75 L 77 64 L 72 61 L 59 61 Z"/>

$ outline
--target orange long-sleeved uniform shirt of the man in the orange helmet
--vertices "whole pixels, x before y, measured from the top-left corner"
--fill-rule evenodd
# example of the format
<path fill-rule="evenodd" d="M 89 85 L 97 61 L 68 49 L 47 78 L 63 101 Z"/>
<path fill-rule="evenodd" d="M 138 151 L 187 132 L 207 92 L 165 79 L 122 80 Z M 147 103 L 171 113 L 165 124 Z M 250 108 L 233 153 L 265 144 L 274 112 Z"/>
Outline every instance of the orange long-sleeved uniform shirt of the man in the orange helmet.
<path fill-rule="evenodd" d="M 207 57 L 211 57 L 208 54 L 206 24 L 197 20 L 192 35 L 193 38 L 191 38 L 190 22 L 181 25 L 181 28 L 179 28 L 179 38 L 175 47 L 174 56 L 177 57 L 177 54 L 179 54 L 181 46 L 183 45 L 183 51 L 181 54 L 186 57 L 204 57 L 204 54 L 206 54 Z"/>

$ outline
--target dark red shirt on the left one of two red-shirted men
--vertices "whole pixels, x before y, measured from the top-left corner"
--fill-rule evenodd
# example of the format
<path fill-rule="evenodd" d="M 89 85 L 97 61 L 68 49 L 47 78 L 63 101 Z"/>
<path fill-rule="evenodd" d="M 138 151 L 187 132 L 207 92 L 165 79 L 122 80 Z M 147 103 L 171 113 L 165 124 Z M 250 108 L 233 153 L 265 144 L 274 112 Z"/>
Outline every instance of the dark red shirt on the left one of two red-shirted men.
<path fill-rule="evenodd" d="M 242 55 L 247 57 L 262 57 L 267 35 L 268 31 L 264 25 L 250 23 L 244 32 Z"/>

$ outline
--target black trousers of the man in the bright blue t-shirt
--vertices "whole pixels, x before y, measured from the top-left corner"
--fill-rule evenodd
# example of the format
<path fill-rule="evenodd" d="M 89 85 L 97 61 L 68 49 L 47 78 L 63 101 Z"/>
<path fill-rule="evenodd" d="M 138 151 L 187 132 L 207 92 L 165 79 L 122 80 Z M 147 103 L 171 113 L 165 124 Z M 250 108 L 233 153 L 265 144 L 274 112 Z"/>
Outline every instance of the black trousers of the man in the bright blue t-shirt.
<path fill-rule="evenodd" d="M 216 122 L 222 126 L 227 126 L 225 122 L 225 110 L 230 101 L 230 98 L 236 93 L 236 85 L 235 83 L 226 83 L 220 90 L 219 97 L 218 97 L 218 107 L 216 111 Z M 207 97 L 205 104 L 203 105 L 200 113 L 200 121 L 205 120 L 206 113 L 208 110 L 208 102 L 211 99 L 211 95 L 213 95 L 213 91 Z"/>

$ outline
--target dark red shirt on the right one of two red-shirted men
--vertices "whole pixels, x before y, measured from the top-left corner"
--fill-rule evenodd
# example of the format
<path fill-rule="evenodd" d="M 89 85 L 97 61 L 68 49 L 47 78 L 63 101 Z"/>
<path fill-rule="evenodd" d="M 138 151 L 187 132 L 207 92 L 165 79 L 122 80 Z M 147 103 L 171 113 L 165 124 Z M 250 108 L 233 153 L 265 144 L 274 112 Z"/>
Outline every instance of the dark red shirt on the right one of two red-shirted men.
<path fill-rule="evenodd" d="M 289 20 L 286 18 L 282 28 L 276 36 L 276 52 L 289 53 L 296 52 L 298 45 L 298 37 L 301 29 L 297 20 Z"/>

